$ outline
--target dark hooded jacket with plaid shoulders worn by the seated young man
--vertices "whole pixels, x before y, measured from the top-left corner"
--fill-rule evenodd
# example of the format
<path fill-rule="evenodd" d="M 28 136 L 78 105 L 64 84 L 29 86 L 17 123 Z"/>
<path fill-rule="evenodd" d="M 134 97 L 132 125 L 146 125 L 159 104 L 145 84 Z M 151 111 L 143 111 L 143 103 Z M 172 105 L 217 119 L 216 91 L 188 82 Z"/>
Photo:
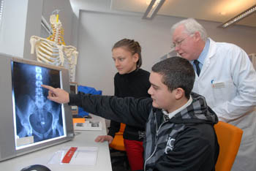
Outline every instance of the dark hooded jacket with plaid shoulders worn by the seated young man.
<path fill-rule="evenodd" d="M 133 126 L 146 126 L 144 170 L 214 171 L 219 154 L 214 124 L 217 115 L 203 96 L 192 94 L 192 104 L 170 120 L 152 107 L 151 98 L 135 99 L 91 94 L 69 94 L 69 104 L 89 113 Z"/>

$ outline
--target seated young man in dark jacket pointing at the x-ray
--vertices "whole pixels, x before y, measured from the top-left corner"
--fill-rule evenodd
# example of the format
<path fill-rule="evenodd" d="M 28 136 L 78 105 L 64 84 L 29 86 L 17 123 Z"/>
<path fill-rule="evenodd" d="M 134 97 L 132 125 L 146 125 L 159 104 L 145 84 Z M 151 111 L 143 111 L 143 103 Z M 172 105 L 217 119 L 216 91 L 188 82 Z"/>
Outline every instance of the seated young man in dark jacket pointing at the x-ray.
<path fill-rule="evenodd" d="M 75 104 L 89 113 L 133 126 L 146 126 L 144 170 L 214 171 L 219 145 L 217 115 L 203 96 L 191 93 L 192 64 L 180 57 L 154 64 L 149 77 L 151 98 L 68 94 L 48 88 L 48 99 Z"/>

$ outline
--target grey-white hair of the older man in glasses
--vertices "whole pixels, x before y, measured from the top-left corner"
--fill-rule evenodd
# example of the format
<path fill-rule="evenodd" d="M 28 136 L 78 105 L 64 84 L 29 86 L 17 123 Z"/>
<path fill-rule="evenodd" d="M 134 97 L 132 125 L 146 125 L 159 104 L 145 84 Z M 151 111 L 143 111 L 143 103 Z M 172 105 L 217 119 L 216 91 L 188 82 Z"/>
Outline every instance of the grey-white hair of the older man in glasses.
<path fill-rule="evenodd" d="M 203 28 L 203 26 L 200 25 L 200 23 L 198 23 L 194 18 L 187 18 L 186 20 L 181 20 L 178 23 L 174 24 L 170 28 L 170 35 L 173 36 L 173 32 L 175 31 L 175 29 L 181 25 L 184 26 L 187 34 L 195 34 L 195 32 L 198 31 L 203 41 L 206 42 L 206 39 L 208 37 L 206 29 Z"/>

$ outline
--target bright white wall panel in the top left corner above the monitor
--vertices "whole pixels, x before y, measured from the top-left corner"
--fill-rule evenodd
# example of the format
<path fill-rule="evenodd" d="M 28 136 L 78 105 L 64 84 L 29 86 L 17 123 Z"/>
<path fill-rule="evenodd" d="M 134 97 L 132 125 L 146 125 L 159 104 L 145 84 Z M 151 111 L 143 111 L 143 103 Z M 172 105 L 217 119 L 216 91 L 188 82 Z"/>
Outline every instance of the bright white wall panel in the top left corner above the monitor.
<path fill-rule="evenodd" d="M 0 29 L 1 53 L 23 56 L 28 3 L 28 0 L 4 1 Z"/>

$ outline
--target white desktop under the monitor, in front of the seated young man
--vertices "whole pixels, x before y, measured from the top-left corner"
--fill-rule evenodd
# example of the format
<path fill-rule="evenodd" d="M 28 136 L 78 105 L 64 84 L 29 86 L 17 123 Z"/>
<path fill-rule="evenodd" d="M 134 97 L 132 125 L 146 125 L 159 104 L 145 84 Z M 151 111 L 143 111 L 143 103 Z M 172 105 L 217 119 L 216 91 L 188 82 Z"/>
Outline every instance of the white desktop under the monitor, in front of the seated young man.
<path fill-rule="evenodd" d="M 108 142 L 94 142 L 94 139 L 98 135 L 107 134 L 105 119 L 96 115 L 92 115 L 92 119 L 93 121 L 102 122 L 102 131 L 75 131 L 75 137 L 71 141 L 54 145 L 50 148 L 45 148 L 39 151 L 34 151 L 32 153 L 27 153 L 23 156 L 18 156 L 6 161 L 0 161 L 0 170 L 20 171 L 23 167 L 27 167 L 32 164 L 42 164 L 52 171 L 112 171 Z M 99 151 L 96 164 L 94 166 L 48 164 L 48 161 L 51 159 L 53 154 L 64 146 L 98 147 Z"/>

